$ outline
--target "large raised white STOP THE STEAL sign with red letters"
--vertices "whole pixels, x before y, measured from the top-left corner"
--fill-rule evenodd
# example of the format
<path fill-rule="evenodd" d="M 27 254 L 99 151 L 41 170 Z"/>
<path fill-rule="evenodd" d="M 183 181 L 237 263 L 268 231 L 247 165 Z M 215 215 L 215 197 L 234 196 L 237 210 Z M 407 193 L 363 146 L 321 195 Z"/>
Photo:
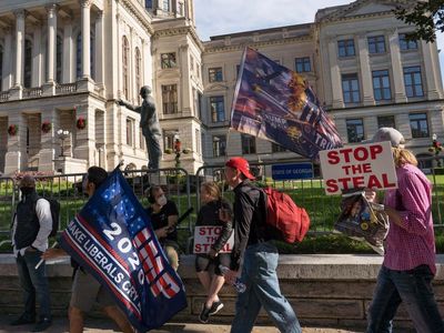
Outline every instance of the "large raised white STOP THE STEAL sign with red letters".
<path fill-rule="evenodd" d="M 396 189 L 391 143 L 380 142 L 320 151 L 326 194 L 352 189 Z"/>

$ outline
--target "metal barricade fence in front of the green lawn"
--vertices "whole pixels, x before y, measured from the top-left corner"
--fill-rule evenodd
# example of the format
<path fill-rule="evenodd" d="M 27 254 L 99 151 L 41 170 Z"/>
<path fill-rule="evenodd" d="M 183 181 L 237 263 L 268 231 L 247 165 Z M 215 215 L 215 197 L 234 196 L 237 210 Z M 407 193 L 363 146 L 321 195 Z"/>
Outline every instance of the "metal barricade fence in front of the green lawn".
<path fill-rule="evenodd" d="M 285 161 L 280 164 L 300 162 Z M 272 178 L 272 165 L 276 162 L 252 162 L 252 172 L 256 175 L 260 185 L 271 185 L 289 193 L 297 205 L 303 206 L 310 214 L 311 229 L 314 234 L 330 233 L 340 213 L 339 195 L 325 195 L 321 176 L 307 180 L 275 181 Z M 434 158 L 421 159 L 420 165 L 430 175 L 433 186 L 432 211 L 435 228 L 444 226 L 442 221 L 444 174 L 442 168 L 436 168 Z M 184 213 L 190 206 L 194 213 L 181 223 L 179 230 L 183 236 L 193 234 L 195 214 L 200 209 L 200 185 L 204 181 L 214 181 L 222 188 L 223 196 L 232 202 L 233 193 L 228 191 L 223 181 L 223 164 L 205 165 L 190 175 L 184 169 L 161 169 L 151 170 L 124 170 L 122 171 L 135 196 L 143 206 L 148 206 L 147 190 L 152 184 L 160 184 L 170 200 L 178 205 L 179 214 Z M 61 225 L 64 226 L 73 219 L 75 213 L 85 203 L 85 195 L 82 193 L 82 173 L 42 176 L 36 175 L 37 191 L 42 196 L 57 199 L 61 204 Z M 10 239 L 10 225 L 14 208 L 20 198 L 18 182 L 12 178 L 0 178 L 0 246 Z"/>

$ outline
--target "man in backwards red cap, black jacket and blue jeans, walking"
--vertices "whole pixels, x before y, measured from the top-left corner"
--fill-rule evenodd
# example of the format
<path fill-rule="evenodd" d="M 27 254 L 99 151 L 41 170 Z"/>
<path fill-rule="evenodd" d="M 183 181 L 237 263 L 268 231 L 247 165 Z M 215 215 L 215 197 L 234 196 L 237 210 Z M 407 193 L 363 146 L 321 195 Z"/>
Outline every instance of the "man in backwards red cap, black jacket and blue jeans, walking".
<path fill-rule="evenodd" d="M 246 285 L 245 292 L 238 295 L 231 332 L 251 332 L 263 306 L 281 332 L 300 333 L 297 317 L 279 287 L 279 253 L 269 242 L 264 193 L 250 183 L 254 175 L 242 158 L 232 158 L 225 163 L 225 179 L 234 191 L 234 246 L 225 279 L 233 283 L 242 263 L 241 280 Z M 221 214 L 220 219 L 226 220 L 226 216 Z"/>

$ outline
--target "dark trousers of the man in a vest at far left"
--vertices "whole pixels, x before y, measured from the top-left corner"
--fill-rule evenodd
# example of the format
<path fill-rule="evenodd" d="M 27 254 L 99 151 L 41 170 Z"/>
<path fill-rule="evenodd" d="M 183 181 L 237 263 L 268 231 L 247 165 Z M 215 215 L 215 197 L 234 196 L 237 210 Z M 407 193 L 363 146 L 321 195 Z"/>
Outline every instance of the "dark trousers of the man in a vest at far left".
<path fill-rule="evenodd" d="M 40 305 L 40 319 L 51 319 L 51 303 L 44 263 L 36 270 L 41 255 L 40 251 L 27 251 L 24 255 L 19 253 L 17 258 L 20 286 L 23 291 L 23 315 L 27 319 L 36 317 L 36 297 Z"/>

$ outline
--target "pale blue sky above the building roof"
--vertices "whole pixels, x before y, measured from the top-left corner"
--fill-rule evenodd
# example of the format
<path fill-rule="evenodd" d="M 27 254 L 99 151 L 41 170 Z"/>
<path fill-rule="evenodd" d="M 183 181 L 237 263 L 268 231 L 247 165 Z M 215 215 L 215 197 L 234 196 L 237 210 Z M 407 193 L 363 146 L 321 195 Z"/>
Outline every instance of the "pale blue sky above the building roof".
<path fill-rule="evenodd" d="M 259 30 L 314 21 L 317 9 L 347 4 L 352 0 L 194 0 L 201 40 L 210 36 Z M 309 6 L 310 3 L 310 6 Z M 441 72 L 444 73 L 444 34 L 437 34 Z M 444 75 L 443 75 L 444 77 Z"/>

